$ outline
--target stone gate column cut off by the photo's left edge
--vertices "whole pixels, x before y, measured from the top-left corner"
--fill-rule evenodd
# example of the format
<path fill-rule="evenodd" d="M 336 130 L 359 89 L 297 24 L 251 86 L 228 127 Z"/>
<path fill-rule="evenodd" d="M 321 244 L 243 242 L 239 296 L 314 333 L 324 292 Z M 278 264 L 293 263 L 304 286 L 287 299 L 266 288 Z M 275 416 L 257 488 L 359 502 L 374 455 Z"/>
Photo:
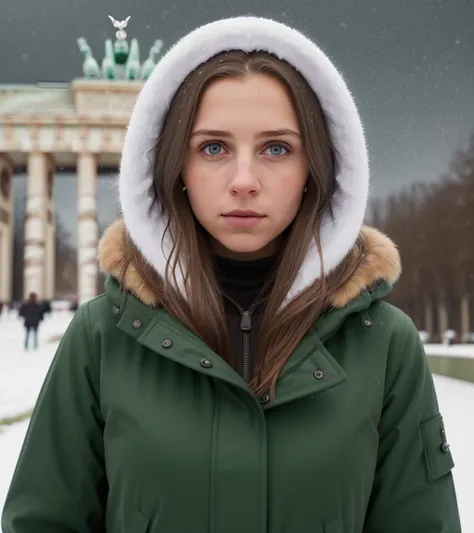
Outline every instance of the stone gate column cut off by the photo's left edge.
<path fill-rule="evenodd" d="M 13 173 L 6 156 L 0 155 L 0 301 L 10 302 L 13 285 Z"/>

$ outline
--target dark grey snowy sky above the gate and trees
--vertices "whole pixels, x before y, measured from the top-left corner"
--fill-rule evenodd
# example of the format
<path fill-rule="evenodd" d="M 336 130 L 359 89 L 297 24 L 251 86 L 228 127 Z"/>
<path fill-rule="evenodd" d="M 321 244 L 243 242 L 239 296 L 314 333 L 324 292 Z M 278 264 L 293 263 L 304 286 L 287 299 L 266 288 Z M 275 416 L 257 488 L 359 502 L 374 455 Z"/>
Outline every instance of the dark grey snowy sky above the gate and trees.
<path fill-rule="evenodd" d="M 295 26 L 343 73 L 371 157 L 371 194 L 435 181 L 474 132 L 473 0 L 0 0 L 0 83 L 70 81 L 82 75 L 76 38 L 99 62 L 131 15 L 141 57 L 194 27 L 261 15 Z"/>

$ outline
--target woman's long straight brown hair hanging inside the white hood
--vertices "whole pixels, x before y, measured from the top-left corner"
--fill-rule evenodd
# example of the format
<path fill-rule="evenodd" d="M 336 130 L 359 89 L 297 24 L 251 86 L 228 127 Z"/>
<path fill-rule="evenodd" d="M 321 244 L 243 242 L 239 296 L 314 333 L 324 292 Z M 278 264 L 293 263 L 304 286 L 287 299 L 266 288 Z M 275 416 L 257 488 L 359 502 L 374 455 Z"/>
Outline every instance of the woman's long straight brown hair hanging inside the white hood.
<path fill-rule="evenodd" d="M 291 65 L 265 52 L 230 51 L 216 55 L 188 75 L 174 95 L 156 146 L 153 208 L 162 209 L 174 243 L 167 274 L 164 280 L 160 279 L 130 239 L 127 241 L 127 264 L 135 266 L 160 306 L 230 361 L 224 305 L 213 270 L 210 239 L 195 219 L 182 191 L 181 170 L 184 147 L 188 146 L 197 109 L 207 87 L 217 79 L 243 77 L 249 73 L 273 76 L 286 87 L 309 159 L 307 192 L 295 220 L 285 232 L 262 318 L 256 367 L 249 384 L 257 395 L 268 390 L 273 395 L 284 364 L 303 335 L 328 308 L 332 296 L 351 277 L 363 252 L 361 246 L 354 247 L 335 271 L 324 275 L 320 226 L 323 215 L 331 209 L 337 189 L 336 153 L 317 96 Z M 282 308 L 314 238 L 323 276 Z M 160 245 L 157 242 L 157 246 Z M 178 294 L 169 281 L 176 280 L 177 269 L 184 274 L 186 298 Z"/>

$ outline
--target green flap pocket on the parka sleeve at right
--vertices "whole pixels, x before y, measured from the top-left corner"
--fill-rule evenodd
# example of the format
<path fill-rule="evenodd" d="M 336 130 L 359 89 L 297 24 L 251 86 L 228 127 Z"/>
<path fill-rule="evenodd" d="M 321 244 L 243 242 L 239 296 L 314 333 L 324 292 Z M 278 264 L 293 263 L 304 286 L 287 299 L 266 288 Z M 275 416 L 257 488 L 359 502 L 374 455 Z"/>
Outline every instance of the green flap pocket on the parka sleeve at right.
<path fill-rule="evenodd" d="M 454 462 L 446 439 L 443 417 L 437 415 L 430 418 L 423 422 L 420 428 L 428 482 L 432 483 L 449 474 L 454 467 Z"/>

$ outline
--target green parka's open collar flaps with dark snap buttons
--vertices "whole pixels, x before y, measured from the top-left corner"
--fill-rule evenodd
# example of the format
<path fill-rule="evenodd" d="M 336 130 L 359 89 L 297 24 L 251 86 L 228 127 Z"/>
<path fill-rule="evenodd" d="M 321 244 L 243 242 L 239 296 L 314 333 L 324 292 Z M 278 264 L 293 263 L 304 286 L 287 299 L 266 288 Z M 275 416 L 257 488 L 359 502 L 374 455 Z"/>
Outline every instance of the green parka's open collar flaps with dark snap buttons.
<path fill-rule="evenodd" d="M 252 401 L 269 409 L 339 385 L 347 379 L 313 329 L 301 340 L 278 380 L 276 397 L 255 398 L 242 377 L 199 337 L 162 309 L 153 309 L 106 279 L 106 292 L 117 327 L 162 357 L 196 372 L 225 381 L 247 393 Z M 365 301 L 361 298 L 361 302 Z M 322 374 L 320 374 L 322 372 Z"/>

